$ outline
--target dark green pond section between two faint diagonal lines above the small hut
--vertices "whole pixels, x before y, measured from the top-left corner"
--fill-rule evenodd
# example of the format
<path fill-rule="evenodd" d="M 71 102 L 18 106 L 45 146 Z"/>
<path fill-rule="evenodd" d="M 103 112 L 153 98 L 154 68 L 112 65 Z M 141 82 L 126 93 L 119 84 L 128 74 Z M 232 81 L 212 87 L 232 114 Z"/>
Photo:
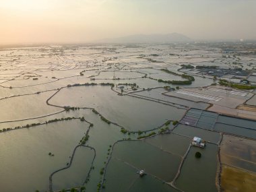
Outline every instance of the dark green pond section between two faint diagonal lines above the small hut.
<path fill-rule="evenodd" d="M 164 152 L 143 141 L 118 143 L 114 148 L 113 158 L 128 164 L 135 170 L 143 169 L 162 181 L 172 181 L 181 162 L 181 156 Z M 162 170 L 166 171 L 163 172 Z"/>

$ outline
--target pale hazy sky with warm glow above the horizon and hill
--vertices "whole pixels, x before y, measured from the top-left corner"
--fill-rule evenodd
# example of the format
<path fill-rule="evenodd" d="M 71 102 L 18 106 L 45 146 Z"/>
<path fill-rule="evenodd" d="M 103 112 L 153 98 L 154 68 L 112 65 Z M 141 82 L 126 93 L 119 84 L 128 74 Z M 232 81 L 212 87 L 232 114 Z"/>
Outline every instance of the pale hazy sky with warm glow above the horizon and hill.
<path fill-rule="evenodd" d="M 0 0 L 0 44 L 179 32 L 256 39 L 256 0 Z"/>

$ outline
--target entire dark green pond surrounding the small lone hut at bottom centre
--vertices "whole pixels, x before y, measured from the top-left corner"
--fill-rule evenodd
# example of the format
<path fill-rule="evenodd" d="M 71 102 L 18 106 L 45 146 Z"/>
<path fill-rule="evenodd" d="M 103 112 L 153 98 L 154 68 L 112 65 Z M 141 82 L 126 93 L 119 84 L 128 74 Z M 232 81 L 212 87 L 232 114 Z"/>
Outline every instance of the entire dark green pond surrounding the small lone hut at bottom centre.
<path fill-rule="evenodd" d="M 187 137 L 174 134 L 158 135 L 144 141 L 117 143 L 107 166 L 104 191 L 145 191 L 151 188 L 145 188 L 144 185 L 153 187 L 153 183 L 155 186 L 152 189 L 158 189 L 157 186 L 160 191 L 177 191 L 163 183 L 174 179 L 189 143 L 190 139 Z M 113 169 L 113 166 L 119 167 L 121 171 Z M 146 171 L 145 177 L 136 174 L 141 169 Z M 146 184 L 150 180 L 152 183 Z"/>

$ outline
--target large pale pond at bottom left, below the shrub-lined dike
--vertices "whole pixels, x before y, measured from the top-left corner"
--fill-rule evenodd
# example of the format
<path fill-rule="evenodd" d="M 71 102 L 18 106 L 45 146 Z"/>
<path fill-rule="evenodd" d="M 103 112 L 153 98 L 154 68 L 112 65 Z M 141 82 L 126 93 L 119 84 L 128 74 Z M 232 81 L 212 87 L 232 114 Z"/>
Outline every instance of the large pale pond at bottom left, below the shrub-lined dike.
<path fill-rule="evenodd" d="M 3 191 L 45 191 L 50 174 L 66 166 L 88 123 L 71 120 L 0 134 Z M 54 156 L 50 156 L 49 153 Z M 15 170 L 11 174 L 10 170 Z M 38 174 L 40 172 L 40 174 Z M 12 181 L 15 180 L 15 185 Z"/>

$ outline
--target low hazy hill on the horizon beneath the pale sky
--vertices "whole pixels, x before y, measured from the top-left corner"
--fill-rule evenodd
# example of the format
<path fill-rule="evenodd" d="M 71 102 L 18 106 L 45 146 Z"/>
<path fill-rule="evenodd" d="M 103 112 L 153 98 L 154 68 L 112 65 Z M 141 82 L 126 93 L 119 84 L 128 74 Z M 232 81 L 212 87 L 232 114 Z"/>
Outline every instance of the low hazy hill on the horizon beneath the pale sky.
<path fill-rule="evenodd" d="M 106 38 L 98 40 L 100 43 L 168 43 L 168 42 L 189 42 L 190 38 L 183 34 L 135 34 L 119 38 Z"/>

